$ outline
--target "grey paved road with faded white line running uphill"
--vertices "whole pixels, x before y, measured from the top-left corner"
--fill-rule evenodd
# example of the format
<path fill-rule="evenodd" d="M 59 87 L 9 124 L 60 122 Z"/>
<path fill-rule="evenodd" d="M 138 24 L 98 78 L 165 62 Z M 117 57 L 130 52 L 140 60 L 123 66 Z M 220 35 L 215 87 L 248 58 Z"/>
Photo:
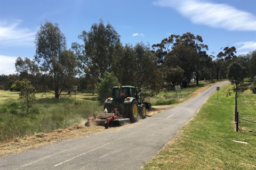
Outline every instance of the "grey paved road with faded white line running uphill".
<path fill-rule="evenodd" d="M 134 124 L 0 158 L 0 169 L 140 169 L 222 82 L 186 103 Z"/>

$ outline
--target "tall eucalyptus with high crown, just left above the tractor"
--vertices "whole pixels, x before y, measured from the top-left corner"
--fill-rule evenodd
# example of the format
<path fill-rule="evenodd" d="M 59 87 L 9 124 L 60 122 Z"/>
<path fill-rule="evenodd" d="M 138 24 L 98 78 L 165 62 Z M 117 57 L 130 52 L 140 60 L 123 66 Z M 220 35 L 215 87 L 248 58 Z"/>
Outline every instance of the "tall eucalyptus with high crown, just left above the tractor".
<path fill-rule="evenodd" d="M 111 72 L 113 61 L 118 54 L 117 50 L 121 45 L 120 36 L 114 27 L 110 23 L 105 27 L 100 20 L 99 24 L 92 24 L 90 31 L 82 31 L 78 38 L 84 41 L 80 61 L 85 65 L 94 65 L 99 77 L 102 77 L 105 71 Z"/>

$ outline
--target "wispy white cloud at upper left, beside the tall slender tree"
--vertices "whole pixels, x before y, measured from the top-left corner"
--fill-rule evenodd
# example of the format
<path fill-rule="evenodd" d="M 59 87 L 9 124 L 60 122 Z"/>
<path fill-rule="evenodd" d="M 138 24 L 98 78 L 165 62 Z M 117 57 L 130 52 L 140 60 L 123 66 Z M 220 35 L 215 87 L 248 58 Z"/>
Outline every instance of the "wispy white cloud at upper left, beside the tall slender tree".
<path fill-rule="evenodd" d="M 9 46 L 33 46 L 36 31 L 28 28 L 21 28 L 21 20 L 15 20 L 12 23 L 1 21 L 0 25 L 0 43 Z"/>

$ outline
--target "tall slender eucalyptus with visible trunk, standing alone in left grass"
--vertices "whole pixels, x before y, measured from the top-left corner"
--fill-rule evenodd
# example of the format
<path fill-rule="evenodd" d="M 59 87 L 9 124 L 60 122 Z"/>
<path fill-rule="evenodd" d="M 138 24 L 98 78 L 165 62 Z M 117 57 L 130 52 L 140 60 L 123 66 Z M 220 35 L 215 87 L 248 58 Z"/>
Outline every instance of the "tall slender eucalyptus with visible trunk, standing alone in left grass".
<path fill-rule="evenodd" d="M 65 84 L 63 84 L 63 68 L 68 65 L 61 63 L 61 53 L 66 50 L 66 37 L 61 32 L 58 23 L 46 21 L 36 33 L 35 61 L 39 69 L 52 78 L 55 98 L 59 98 Z"/>

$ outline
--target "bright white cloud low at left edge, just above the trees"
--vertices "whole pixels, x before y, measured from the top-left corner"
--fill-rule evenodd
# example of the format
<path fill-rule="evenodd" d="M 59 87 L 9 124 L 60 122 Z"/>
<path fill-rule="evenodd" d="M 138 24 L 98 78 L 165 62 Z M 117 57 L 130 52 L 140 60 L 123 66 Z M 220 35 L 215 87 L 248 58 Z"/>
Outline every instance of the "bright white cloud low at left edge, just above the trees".
<path fill-rule="evenodd" d="M 15 60 L 18 57 L 0 55 L 0 75 L 15 74 Z"/>

